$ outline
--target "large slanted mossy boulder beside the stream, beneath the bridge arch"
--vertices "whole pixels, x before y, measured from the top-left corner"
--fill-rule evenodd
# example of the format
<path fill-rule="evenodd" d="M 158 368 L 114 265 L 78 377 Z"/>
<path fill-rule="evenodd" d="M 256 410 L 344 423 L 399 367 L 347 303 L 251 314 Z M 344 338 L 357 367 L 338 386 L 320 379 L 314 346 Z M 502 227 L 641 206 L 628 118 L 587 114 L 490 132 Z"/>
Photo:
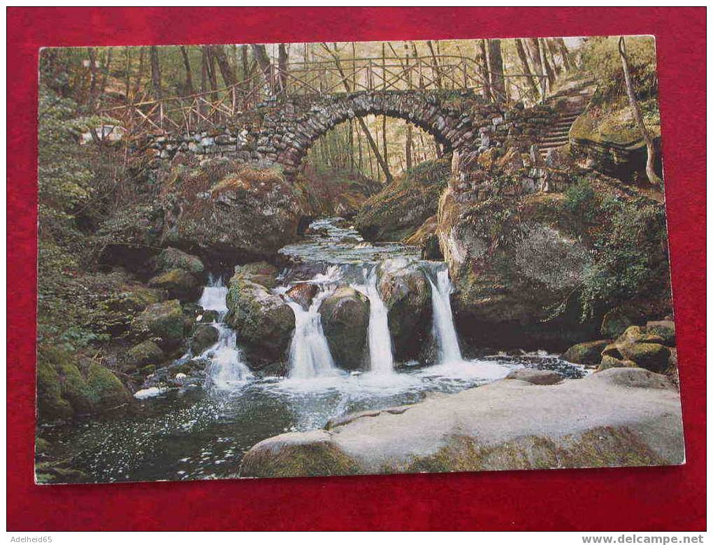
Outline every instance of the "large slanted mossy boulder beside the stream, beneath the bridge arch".
<path fill-rule="evenodd" d="M 354 218 L 361 235 L 372 241 L 400 241 L 411 237 L 436 214 L 438 197 L 451 173 L 446 158 L 426 161 L 369 197 Z"/>

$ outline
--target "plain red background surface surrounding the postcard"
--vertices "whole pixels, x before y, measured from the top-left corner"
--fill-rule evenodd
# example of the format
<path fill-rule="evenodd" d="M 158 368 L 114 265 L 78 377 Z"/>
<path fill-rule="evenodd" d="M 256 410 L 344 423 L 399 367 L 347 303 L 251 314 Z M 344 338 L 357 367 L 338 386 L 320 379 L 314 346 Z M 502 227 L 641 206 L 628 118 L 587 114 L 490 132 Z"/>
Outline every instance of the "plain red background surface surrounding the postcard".
<path fill-rule="evenodd" d="M 8 529 L 705 528 L 705 8 L 9 8 L 7 15 Z M 657 38 L 685 465 L 33 484 L 40 46 L 596 34 Z"/>

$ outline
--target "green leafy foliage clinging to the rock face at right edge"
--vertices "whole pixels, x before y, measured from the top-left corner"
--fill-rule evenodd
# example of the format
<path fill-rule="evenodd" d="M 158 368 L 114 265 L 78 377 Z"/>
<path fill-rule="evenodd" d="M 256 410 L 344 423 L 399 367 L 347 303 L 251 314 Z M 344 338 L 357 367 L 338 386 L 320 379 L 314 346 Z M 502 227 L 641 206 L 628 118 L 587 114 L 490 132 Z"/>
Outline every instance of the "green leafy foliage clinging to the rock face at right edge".
<path fill-rule="evenodd" d="M 595 242 L 595 264 L 580 296 L 583 318 L 669 288 L 664 208 L 643 200 L 608 199 L 602 209 L 611 214 L 610 228 Z"/>

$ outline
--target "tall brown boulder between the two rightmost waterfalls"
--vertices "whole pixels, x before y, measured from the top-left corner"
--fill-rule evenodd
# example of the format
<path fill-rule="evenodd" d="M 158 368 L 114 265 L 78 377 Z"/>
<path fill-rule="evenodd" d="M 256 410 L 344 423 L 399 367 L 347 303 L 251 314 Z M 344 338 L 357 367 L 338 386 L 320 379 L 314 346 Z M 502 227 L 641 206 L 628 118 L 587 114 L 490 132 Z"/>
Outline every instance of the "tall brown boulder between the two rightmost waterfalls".
<path fill-rule="evenodd" d="M 404 258 L 381 262 L 378 289 L 389 312 L 394 356 L 416 358 L 431 338 L 431 288 L 419 264 Z"/>

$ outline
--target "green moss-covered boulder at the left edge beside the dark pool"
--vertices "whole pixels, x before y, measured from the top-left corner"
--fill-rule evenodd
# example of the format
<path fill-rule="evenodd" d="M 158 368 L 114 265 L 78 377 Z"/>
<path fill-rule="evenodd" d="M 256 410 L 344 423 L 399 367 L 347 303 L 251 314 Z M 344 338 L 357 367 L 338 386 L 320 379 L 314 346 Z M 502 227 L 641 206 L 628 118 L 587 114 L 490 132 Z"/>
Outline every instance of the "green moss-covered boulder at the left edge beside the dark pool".
<path fill-rule="evenodd" d="M 38 413 L 44 422 L 111 410 L 130 399 L 111 370 L 62 348 L 40 347 L 37 369 Z"/>

